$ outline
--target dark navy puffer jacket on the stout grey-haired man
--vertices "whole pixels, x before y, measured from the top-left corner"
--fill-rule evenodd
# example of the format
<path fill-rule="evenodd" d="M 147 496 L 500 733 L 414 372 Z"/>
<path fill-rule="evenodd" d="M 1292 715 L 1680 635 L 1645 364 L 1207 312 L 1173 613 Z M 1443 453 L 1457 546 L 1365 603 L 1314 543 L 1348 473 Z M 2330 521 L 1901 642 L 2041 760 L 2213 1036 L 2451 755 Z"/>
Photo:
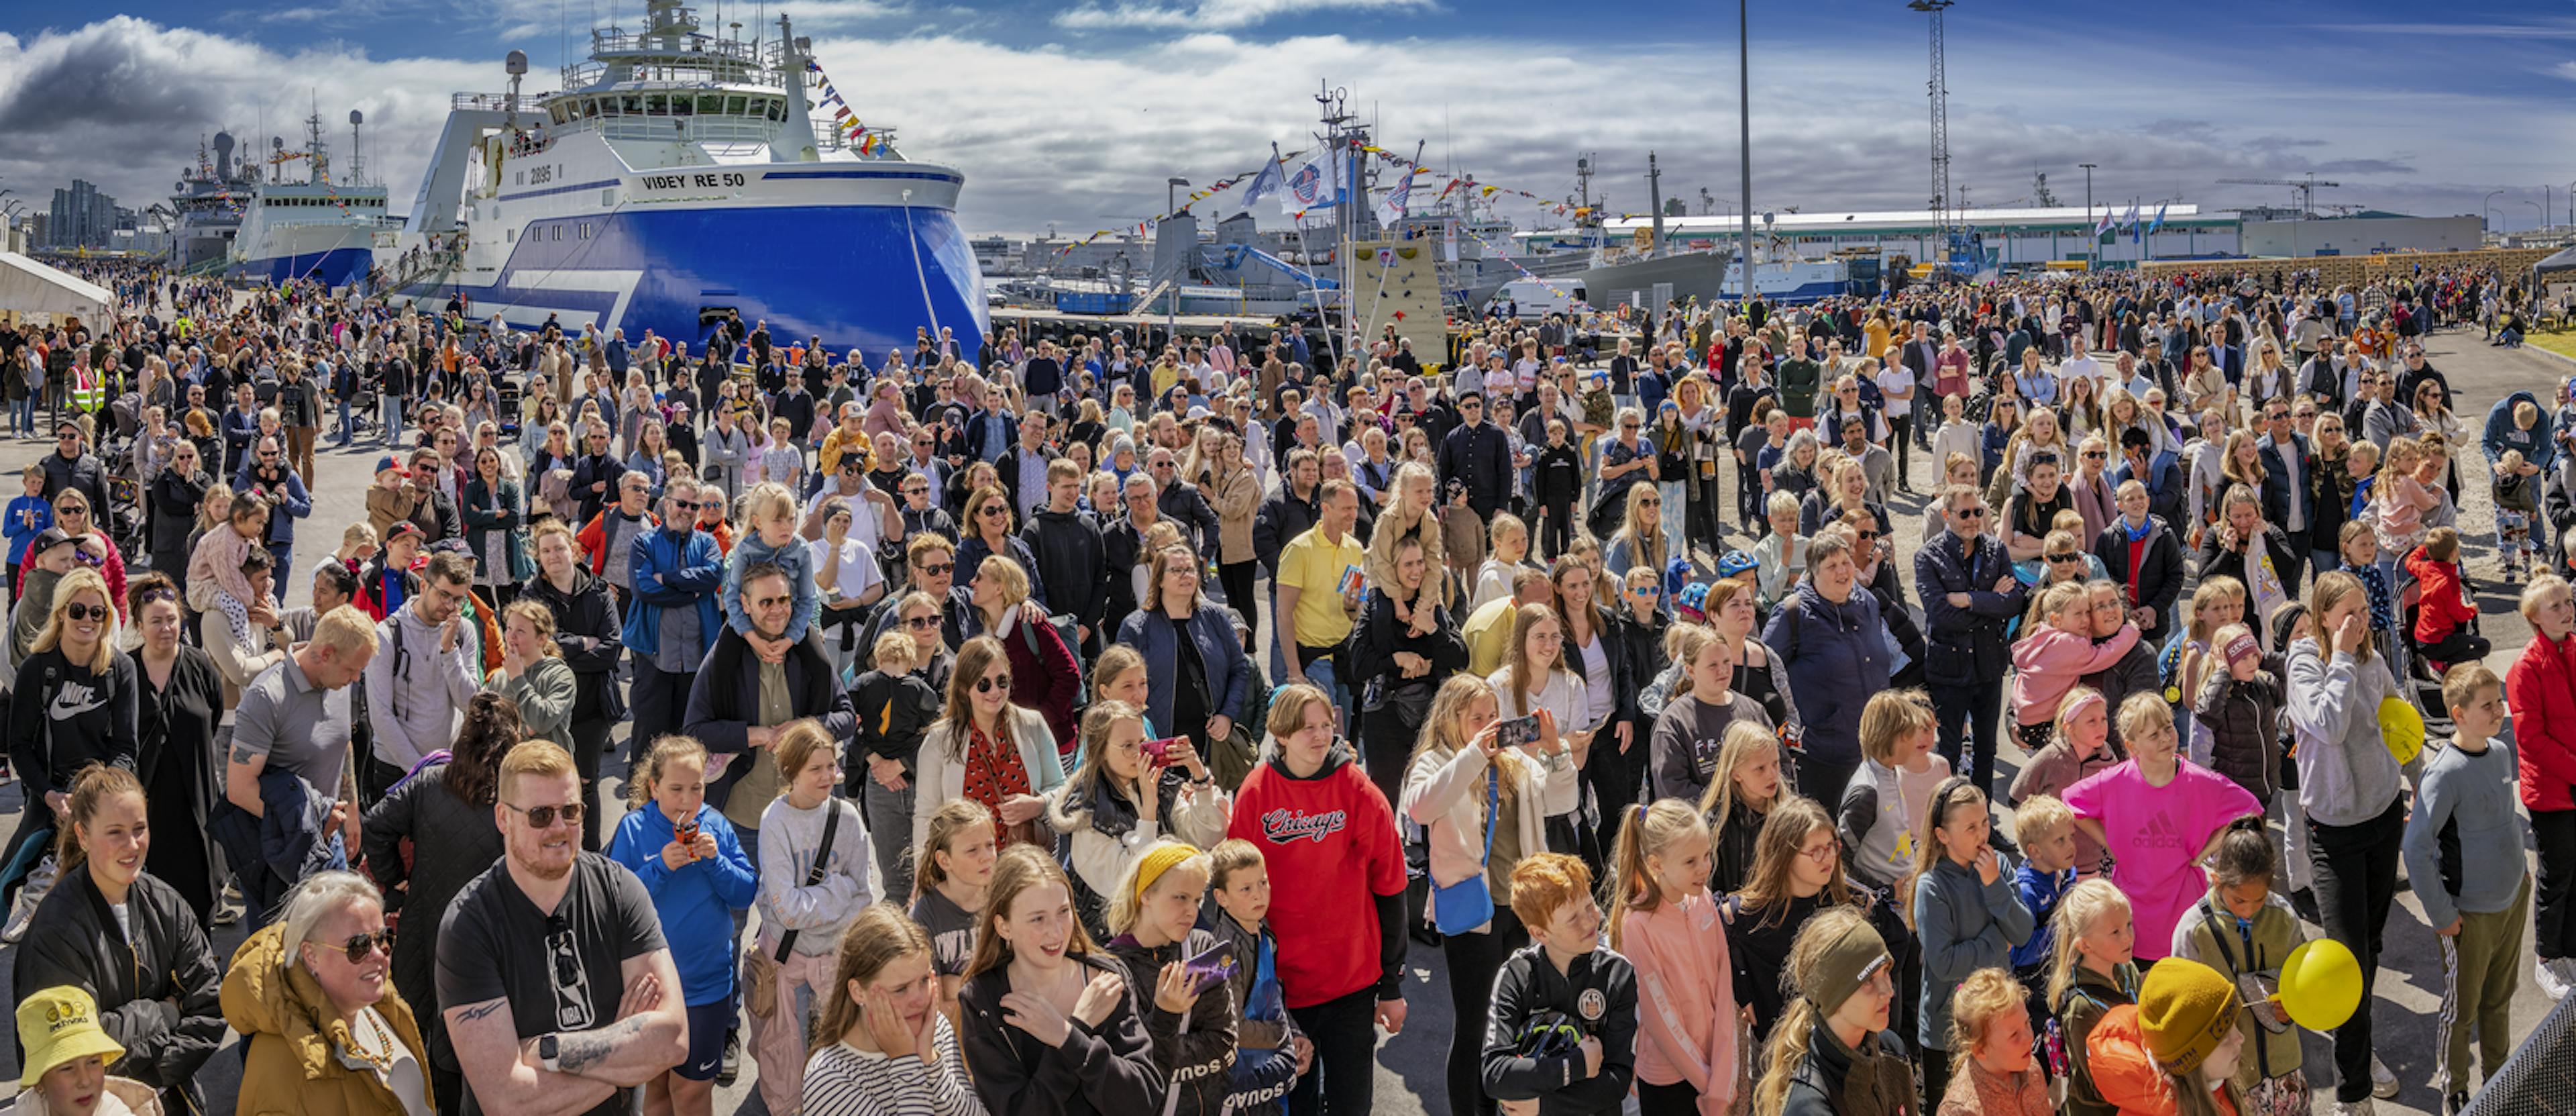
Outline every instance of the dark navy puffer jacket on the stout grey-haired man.
<path fill-rule="evenodd" d="M 1772 608 L 1762 642 L 1788 665 L 1806 753 L 1819 763 L 1860 763 L 1860 709 L 1888 688 L 1888 631 L 1878 598 L 1852 585 L 1839 606 L 1816 593 L 1814 580 Z"/>

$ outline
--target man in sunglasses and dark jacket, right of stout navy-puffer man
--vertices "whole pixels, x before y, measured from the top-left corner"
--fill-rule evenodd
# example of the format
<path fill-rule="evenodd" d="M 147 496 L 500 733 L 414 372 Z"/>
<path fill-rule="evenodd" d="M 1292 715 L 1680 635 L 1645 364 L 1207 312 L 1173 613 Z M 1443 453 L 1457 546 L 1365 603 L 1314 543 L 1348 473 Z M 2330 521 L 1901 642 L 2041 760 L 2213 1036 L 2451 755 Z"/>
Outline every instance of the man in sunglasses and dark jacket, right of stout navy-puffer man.
<path fill-rule="evenodd" d="M 1940 722 L 1940 750 L 1991 789 L 1994 732 L 2004 709 L 2012 644 L 2004 629 L 2022 613 L 2022 580 L 2004 544 L 1986 534 L 1986 497 L 1971 485 L 1940 495 L 1947 531 L 1914 552 L 1914 590 L 1924 606 L 1924 686 Z M 1963 753 L 1965 750 L 1965 765 Z"/>

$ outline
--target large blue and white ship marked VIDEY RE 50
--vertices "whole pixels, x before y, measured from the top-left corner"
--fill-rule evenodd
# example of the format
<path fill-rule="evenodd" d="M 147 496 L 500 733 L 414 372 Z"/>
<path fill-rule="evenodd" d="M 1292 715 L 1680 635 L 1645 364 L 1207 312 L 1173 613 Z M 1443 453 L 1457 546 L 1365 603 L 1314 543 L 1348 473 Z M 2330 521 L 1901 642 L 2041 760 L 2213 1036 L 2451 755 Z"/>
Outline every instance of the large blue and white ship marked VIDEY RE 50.
<path fill-rule="evenodd" d="M 778 338 L 912 348 L 989 330 L 956 224 L 963 175 L 881 126 L 817 119 L 809 44 L 708 36 L 680 0 L 641 31 L 598 28 L 559 93 L 459 93 L 384 286 L 428 312 L 644 330 L 703 351 L 739 314 Z"/>

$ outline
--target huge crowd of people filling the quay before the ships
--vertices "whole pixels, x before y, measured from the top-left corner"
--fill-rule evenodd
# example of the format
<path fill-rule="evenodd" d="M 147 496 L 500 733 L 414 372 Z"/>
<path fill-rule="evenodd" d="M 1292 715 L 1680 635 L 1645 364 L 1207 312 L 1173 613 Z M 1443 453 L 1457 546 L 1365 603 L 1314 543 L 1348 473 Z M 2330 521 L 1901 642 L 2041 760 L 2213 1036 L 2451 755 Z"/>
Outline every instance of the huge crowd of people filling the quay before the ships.
<path fill-rule="evenodd" d="M 1437 951 L 1453 1116 L 2342 1116 L 2391 936 L 2458 1111 L 2576 985 L 2576 392 L 2424 353 L 2499 276 L 873 363 L 103 278 L 0 330 L 21 1111 L 234 1031 L 240 1111 L 1365 1116 Z"/>

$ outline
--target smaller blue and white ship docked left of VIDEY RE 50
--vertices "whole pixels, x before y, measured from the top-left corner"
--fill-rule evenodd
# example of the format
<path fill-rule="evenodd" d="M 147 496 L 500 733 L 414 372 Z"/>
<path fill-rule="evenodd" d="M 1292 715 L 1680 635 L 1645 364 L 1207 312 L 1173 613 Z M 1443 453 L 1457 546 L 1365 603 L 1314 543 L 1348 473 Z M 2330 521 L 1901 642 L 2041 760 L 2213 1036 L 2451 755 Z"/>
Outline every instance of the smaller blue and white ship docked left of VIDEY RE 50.
<path fill-rule="evenodd" d="M 358 111 L 348 113 L 355 131 Z M 314 278 L 322 286 L 345 286 L 368 273 L 376 258 L 379 235 L 386 245 L 402 229 L 384 209 L 384 183 L 363 183 L 353 168 L 340 180 L 332 178 L 330 149 L 322 144 L 322 116 L 304 121 L 301 152 L 289 152 L 286 139 L 270 139 L 276 155 L 270 180 L 258 183 L 242 211 L 240 235 L 232 240 L 232 278 L 283 284 L 289 278 Z M 355 134 L 350 137 L 355 147 Z M 283 180 L 289 162 L 304 162 L 304 180 Z"/>

